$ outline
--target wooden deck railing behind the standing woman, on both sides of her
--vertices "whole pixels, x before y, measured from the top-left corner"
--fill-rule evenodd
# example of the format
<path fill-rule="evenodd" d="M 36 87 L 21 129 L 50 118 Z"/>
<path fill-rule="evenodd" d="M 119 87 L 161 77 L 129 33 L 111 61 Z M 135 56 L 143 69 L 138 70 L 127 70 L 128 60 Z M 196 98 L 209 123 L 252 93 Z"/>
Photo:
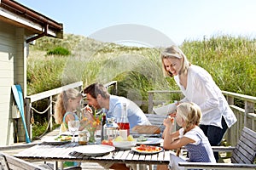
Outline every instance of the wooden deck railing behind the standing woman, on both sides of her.
<path fill-rule="evenodd" d="M 230 108 L 234 111 L 237 122 L 235 125 L 230 127 L 228 132 L 225 134 L 225 139 L 227 142 L 233 146 L 237 143 L 240 135 L 242 127 L 248 127 L 252 129 L 254 132 L 256 131 L 256 114 L 255 114 L 255 103 L 256 97 L 244 95 L 244 94 L 236 94 L 231 92 L 222 92 L 226 97 Z M 168 102 L 166 100 L 156 100 L 154 99 L 155 94 L 180 94 L 180 99 L 183 98 L 181 91 L 169 91 L 169 90 L 154 90 L 148 91 L 148 113 L 153 113 L 153 107 L 155 105 L 160 105 L 161 103 Z M 239 99 L 244 104 L 244 108 L 240 108 L 239 106 L 235 105 L 234 100 Z"/>

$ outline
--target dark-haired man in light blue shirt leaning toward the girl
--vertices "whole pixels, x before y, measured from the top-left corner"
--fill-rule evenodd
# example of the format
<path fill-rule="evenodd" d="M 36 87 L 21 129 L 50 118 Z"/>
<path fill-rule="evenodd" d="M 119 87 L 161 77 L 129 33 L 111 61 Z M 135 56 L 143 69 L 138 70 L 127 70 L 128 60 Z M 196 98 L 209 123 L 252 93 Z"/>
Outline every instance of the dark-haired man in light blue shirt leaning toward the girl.
<path fill-rule="evenodd" d="M 143 111 L 130 99 L 108 94 L 107 88 L 96 82 L 84 88 L 84 94 L 88 100 L 88 104 L 95 109 L 102 109 L 107 113 L 107 117 L 114 117 L 118 120 L 122 114 L 122 104 L 126 103 L 127 117 L 130 123 L 130 129 L 136 125 L 150 125 L 148 118 Z"/>

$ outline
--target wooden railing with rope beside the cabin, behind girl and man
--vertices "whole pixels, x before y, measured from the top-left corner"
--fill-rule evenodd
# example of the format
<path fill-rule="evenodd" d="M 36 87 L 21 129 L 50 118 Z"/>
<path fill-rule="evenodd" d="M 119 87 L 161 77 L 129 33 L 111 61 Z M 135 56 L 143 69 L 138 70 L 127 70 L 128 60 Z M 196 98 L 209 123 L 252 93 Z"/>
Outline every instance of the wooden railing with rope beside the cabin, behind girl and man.
<path fill-rule="evenodd" d="M 112 81 L 104 84 L 106 88 L 113 87 L 113 94 L 117 93 L 117 81 Z M 39 94 L 33 94 L 30 96 L 26 96 L 25 104 L 26 104 L 26 128 L 29 133 L 30 139 L 32 139 L 32 103 L 41 99 L 48 99 L 49 107 L 47 108 L 47 113 L 49 117 L 49 130 L 52 130 L 53 126 L 53 97 L 57 94 L 61 94 L 62 91 L 67 90 L 68 88 L 77 88 L 79 91 L 83 88 L 83 82 L 74 82 L 67 86 L 63 86 L 61 88 L 55 88 L 46 92 L 42 92 Z"/>

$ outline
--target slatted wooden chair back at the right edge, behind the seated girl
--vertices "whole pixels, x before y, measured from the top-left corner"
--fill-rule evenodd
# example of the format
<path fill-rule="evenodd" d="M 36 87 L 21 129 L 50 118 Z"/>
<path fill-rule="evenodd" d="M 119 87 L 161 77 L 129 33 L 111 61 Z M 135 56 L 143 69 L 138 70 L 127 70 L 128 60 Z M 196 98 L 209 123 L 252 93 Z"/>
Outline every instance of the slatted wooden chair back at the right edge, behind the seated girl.
<path fill-rule="evenodd" d="M 241 137 L 231 156 L 232 163 L 253 164 L 256 156 L 256 133 L 243 127 Z"/>

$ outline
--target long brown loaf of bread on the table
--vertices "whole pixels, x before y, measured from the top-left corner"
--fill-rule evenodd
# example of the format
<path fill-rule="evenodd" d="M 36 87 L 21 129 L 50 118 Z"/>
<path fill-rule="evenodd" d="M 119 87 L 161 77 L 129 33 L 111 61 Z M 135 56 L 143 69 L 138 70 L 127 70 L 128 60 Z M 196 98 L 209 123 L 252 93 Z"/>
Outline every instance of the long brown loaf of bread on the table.
<path fill-rule="evenodd" d="M 131 131 L 142 134 L 160 134 L 160 127 L 154 125 L 137 125 Z"/>

